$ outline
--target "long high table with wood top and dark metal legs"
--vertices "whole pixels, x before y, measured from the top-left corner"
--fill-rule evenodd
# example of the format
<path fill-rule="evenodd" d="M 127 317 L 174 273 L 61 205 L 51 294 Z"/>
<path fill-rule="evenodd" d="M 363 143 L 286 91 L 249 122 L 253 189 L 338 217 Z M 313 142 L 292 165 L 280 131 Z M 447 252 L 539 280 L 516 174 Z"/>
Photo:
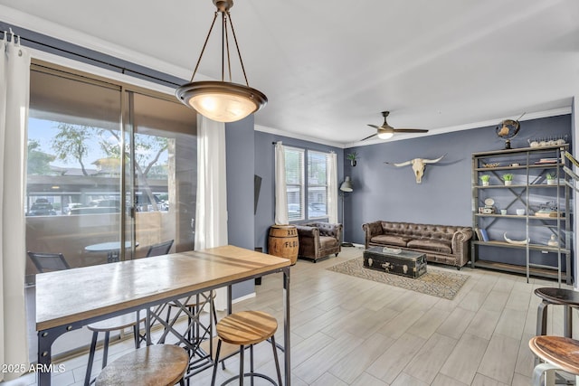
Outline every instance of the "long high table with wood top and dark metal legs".
<path fill-rule="evenodd" d="M 285 384 L 290 384 L 289 259 L 223 246 L 72 268 L 36 276 L 38 385 L 51 384 L 52 343 L 62 334 L 115 315 L 147 309 L 218 287 L 283 272 Z M 90 285 L 88 285 L 90 284 Z M 148 331 L 147 331 L 148 333 Z M 150 334 L 147 334 L 147 344 Z"/>

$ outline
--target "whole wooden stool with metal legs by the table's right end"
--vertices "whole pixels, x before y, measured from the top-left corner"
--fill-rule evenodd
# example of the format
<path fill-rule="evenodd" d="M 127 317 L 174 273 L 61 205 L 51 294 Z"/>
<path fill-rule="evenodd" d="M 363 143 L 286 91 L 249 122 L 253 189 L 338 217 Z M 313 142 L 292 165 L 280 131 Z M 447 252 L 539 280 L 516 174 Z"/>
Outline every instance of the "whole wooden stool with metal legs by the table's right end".
<path fill-rule="evenodd" d="M 278 321 L 276 318 L 262 311 L 242 311 L 223 317 L 223 319 L 221 319 L 217 325 L 215 325 L 215 330 L 217 331 L 219 340 L 217 342 L 217 353 L 215 354 L 214 374 L 211 379 L 212 386 L 215 384 L 215 376 L 217 374 L 217 367 L 219 365 L 219 354 L 223 342 L 226 344 L 234 344 L 239 346 L 240 369 L 239 375 L 235 375 L 227 381 L 224 381 L 222 385 L 225 385 L 239 378 L 239 384 L 242 386 L 243 377 L 252 377 L 252 383 L 253 377 L 259 377 L 270 381 L 274 385 L 277 384 L 278 386 L 281 386 L 280 362 L 278 360 L 278 352 L 276 350 L 274 337 L 277 329 Z M 268 339 L 271 339 L 273 359 L 275 361 L 275 367 L 278 372 L 278 383 L 273 381 L 265 374 L 253 372 L 253 344 L 259 344 Z M 250 372 L 243 372 L 243 352 L 246 346 L 250 347 Z"/>

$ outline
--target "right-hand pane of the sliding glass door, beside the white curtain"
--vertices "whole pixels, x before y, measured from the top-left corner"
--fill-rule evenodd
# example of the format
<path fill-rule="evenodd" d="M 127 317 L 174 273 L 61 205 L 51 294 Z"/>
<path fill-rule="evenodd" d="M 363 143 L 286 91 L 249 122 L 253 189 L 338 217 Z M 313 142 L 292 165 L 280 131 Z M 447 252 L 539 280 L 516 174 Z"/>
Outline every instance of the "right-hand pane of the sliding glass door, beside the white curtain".
<path fill-rule="evenodd" d="M 134 221 L 136 256 L 174 240 L 172 251 L 192 250 L 195 224 L 197 142 L 195 113 L 173 101 L 128 92 L 132 107 L 131 175 L 126 179 Z"/>

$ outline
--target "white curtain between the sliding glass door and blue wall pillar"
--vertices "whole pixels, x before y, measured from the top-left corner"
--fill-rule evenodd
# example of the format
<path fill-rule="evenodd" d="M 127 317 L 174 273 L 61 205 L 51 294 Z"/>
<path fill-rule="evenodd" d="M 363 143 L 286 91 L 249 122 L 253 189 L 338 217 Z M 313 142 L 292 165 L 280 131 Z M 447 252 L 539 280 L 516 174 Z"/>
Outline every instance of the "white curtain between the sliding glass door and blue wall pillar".
<path fill-rule="evenodd" d="M 227 245 L 225 124 L 197 114 L 197 201 L 195 250 Z M 215 307 L 227 307 L 227 290 L 219 288 Z"/>

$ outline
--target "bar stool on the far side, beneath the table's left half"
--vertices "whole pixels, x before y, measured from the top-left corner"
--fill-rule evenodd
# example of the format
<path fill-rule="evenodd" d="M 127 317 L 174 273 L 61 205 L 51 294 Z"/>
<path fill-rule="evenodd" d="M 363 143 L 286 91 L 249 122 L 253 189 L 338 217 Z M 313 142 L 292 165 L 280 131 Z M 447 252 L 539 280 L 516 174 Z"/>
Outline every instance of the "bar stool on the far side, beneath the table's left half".
<path fill-rule="evenodd" d="M 120 331 L 128 327 L 133 327 L 135 348 L 138 348 L 141 341 L 141 336 L 138 333 L 139 325 L 145 320 L 145 316 L 139 317 L 137 323 L 137 315 L 138 313 L 130 313 L 87 325 L 87 328 L 92 331 L 92 342 L 90 343 L 89 363 L 87 364 L 87 372 L 84 376 L 84 386 L 89 386 L 90 383 L 94 381 L 90 380 L 90 372 L 92 372 L 92 363 L 94 362 L 94 353 L 97 349 L 99 333 L 105 333 L 105 341 L 102 348 L 102 369 L 107 365 L 107 358 L 109 357 L 109 337 L 111 331 Z"/>

